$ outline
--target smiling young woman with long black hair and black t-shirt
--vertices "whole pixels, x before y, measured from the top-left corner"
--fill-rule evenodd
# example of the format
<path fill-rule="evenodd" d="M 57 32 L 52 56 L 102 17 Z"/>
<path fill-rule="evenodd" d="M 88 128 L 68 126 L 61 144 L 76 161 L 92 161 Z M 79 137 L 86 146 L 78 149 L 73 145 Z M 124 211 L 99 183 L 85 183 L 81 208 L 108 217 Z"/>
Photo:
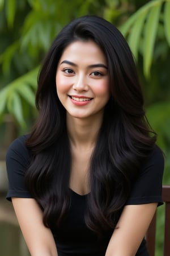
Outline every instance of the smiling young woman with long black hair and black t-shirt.
<path fill-rule="evenodd" d="M 58 34 L 39 74 L 39 117 L 7 152 L 9 190 L 32 256 L 148 256 L 164 159 L 133 56 L 96 16 Z"/>

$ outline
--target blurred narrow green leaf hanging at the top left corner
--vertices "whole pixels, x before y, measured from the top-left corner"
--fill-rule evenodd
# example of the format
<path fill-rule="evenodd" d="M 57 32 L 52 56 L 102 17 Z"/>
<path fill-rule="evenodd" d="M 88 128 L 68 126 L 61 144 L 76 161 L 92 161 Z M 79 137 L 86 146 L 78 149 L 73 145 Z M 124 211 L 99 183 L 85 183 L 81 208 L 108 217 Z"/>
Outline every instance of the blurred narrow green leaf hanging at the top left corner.
<path fill-rule="evenodd" d="M 6 19 L 8 27 L 14 26 L 14 18 L 16 12 L 16 0 L 6 0 Z"/>

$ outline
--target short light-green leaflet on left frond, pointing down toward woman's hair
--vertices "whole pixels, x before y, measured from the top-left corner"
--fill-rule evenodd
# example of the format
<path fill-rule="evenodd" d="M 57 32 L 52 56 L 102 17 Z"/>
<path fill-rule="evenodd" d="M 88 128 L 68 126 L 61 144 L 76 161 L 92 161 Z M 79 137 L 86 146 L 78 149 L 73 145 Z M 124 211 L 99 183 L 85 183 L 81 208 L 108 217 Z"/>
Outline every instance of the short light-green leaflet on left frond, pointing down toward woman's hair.
<path fill-rule="evenodd" d="M 23 84 L 22 86 L 18 86 L 16 89 L 20 95 L 31 105 L 32 107 L 35 106 L 35 94 L 33 94 L 32 90 L 29 88 L 27 84 Z"/>

